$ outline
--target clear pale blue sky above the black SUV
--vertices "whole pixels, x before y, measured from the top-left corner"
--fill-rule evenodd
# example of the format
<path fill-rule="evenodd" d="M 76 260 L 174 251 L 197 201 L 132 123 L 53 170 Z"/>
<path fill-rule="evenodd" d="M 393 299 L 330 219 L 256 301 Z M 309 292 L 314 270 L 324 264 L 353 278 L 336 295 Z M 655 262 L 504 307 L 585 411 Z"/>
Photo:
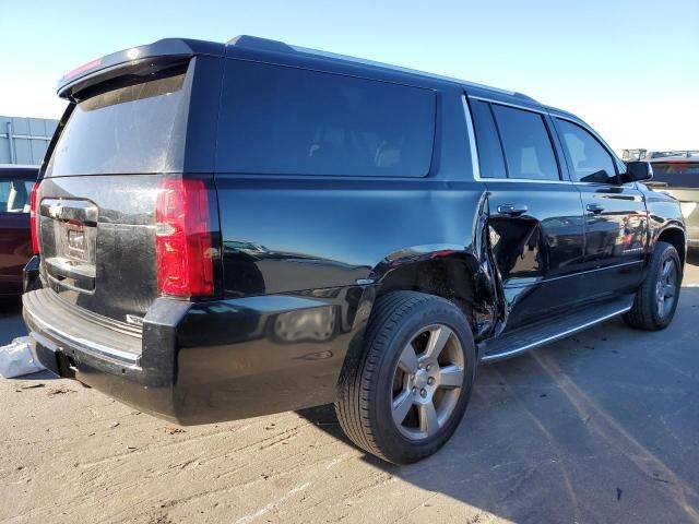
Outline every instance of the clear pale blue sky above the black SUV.
<path fill-rule="evenodd" d="M 239 34 L 526 93 L 615 147 L 699 148 L 699 0 L 0 0 L 0 115 L 58 118 L 67 71 L 168 36 Z"/>

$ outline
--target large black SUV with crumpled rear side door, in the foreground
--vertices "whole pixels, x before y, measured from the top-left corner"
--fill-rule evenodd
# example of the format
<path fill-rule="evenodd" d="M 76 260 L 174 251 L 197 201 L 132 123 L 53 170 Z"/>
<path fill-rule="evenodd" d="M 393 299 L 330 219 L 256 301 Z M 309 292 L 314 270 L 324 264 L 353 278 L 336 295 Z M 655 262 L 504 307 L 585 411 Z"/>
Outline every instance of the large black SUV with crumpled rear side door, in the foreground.
<path fill-rule="evenodd" d="M 453 433 L 478 361 L 677 306 L 678 203 L 519 93 L 242 36 L 110 55 L 59 94 L 33 350 L 154 415 L 334 402 L 408 463 Z"/>

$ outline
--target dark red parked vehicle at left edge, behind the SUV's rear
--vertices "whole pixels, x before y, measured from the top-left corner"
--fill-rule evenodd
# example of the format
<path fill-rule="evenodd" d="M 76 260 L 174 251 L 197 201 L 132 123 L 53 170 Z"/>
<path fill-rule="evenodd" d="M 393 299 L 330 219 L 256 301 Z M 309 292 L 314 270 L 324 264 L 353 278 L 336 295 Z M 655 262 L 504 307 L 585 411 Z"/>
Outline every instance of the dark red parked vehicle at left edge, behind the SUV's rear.
<path fill-rule="evenodd" d="M 37 166 L 0 164 L 0 298 L 22 294 L 22 269 L 32 257 L 29 194 Z"/>

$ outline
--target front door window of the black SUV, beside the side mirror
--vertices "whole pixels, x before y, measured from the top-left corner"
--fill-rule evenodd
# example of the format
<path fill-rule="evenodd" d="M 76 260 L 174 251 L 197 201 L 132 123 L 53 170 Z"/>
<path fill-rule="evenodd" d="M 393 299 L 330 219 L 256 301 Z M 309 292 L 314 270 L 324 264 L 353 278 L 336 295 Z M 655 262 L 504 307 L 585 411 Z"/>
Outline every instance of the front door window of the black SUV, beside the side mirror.
<path fill-rule="evenodd" d="M 558 119 L 564 147 L 568 152 L 576 180 L 609 183 L 616 177 L 614 159 L 588 131 L 567 120 Z"/>

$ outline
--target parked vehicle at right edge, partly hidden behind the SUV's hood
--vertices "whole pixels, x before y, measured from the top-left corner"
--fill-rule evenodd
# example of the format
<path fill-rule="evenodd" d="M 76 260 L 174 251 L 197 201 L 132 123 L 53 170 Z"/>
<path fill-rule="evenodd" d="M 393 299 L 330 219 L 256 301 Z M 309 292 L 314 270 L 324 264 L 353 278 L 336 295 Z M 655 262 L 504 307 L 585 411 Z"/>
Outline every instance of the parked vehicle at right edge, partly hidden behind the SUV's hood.
<path fill-rule="evenodd" d="M 649 153 L 653 166 L 650 188 L 679 201 L 687 226 L 687 245 L 699 248 L 699 151 Z"/>

